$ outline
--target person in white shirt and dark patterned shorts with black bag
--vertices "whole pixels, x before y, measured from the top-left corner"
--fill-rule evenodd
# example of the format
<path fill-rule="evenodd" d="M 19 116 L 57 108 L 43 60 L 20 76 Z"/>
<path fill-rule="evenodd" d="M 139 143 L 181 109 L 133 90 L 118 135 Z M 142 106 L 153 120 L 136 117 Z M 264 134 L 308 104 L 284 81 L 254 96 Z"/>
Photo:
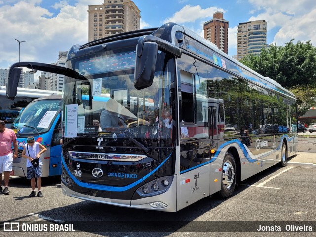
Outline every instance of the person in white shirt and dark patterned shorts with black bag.
<path fill-rule="evenodd" d="M 41 151 L 40 151 L 41 149 Z M 35 178 L 37 178 L 37 186 L 38 186 L 38 197 L 44 197 L 41 192 L 41 166 L 43 163 L 40 161 L 40 155 L 47 150 L 46 147 L 41 145 L 38 142 L 34 141 L 34 137 L 28 137 L 26 139 L 26 144 L 24 145 L 24 149 L 22 152 L 22 157 L 27 158 L 26 161 L 26 178 L 31 179 L 31 188 L 32 192 L 29 197 L 35 196 Z M 34 166 L 31 162 L 33 159 L 39 159 L 38 166 Z"/>

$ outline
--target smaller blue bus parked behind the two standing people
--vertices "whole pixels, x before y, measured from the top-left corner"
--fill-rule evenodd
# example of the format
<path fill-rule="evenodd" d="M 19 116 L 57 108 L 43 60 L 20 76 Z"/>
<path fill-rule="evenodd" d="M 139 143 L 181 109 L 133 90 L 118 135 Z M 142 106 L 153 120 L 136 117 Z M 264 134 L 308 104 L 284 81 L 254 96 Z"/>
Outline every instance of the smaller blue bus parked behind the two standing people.
<path fill-rule="evenodd" d="M 11 175 L 26 177 L 26 158 L 22 158 L 22 151 L 29 136 L 47 148 L 41 155 L 42 177 L 61 174 L 61 106 L 61 95 L 41 97 L 30 102 L 12 123 L 18 157 L 13 160 Z"/>

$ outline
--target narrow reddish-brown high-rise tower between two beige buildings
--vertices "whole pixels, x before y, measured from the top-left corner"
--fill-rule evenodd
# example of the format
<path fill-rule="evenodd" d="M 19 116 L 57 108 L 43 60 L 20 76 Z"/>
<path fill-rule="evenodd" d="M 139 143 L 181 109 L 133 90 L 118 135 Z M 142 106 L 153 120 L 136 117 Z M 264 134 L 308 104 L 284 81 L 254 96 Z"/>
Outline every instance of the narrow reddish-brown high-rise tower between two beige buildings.
<path fill-rule="evenodd" d="M 216 44 L 224 53 L 228 51 L 228 21 L 224 19 L 223 12 L 217 11 L 213 19 L 203 24 L 204 38 Z"/>

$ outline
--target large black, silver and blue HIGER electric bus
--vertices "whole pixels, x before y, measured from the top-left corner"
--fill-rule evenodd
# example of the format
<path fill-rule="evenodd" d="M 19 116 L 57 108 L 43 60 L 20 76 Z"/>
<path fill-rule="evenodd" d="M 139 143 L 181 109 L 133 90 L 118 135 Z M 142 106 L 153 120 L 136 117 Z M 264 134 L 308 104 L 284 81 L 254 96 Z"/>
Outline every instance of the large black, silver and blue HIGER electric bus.
<path fill-rule="evenodd" d="M 15 63 L 9 97 L 23 66 L 65 75 L 61 182 L 71 197 L 175 212 L 230 197 L 296 153 L 294 94 L 175 23 L 75 45 L 66 69 Z M 94 99 L 105 94 L 114 106 Z M 154 111 L 144 121 L 146 100 Z M 101 109 L 113 125 L 91 132 Z"/>

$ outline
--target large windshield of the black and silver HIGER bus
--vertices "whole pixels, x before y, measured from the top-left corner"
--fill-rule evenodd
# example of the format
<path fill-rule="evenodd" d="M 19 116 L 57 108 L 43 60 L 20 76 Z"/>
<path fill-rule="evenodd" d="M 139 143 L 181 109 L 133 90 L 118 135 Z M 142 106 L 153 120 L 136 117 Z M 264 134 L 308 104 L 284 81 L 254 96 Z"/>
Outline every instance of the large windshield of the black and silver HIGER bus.
<path fill-rule="evenodd" d="M 99 132 L 157 138 L 159 130 L 170 130 L 172 118 L 175 119 L 171 107 L 174 59 L 158 51 L 153 84 L 137 90 L 134 87 L 135 53 L 135 47 L 124 48 L 68 62 L 68 67 L 89 80 L 66 77 L 64 82 L 65 106 L 78 104 L 78 135 Z M 86 106 L 90 93 L 92 108 Z M 63 115 L 65 121 L 66 111 Z M 66 122 L 65 131 L 70 131 L 67 126 L 70 125 Z M 165 138 L 171 138 L 171 132 L 166 132 Z"/>

